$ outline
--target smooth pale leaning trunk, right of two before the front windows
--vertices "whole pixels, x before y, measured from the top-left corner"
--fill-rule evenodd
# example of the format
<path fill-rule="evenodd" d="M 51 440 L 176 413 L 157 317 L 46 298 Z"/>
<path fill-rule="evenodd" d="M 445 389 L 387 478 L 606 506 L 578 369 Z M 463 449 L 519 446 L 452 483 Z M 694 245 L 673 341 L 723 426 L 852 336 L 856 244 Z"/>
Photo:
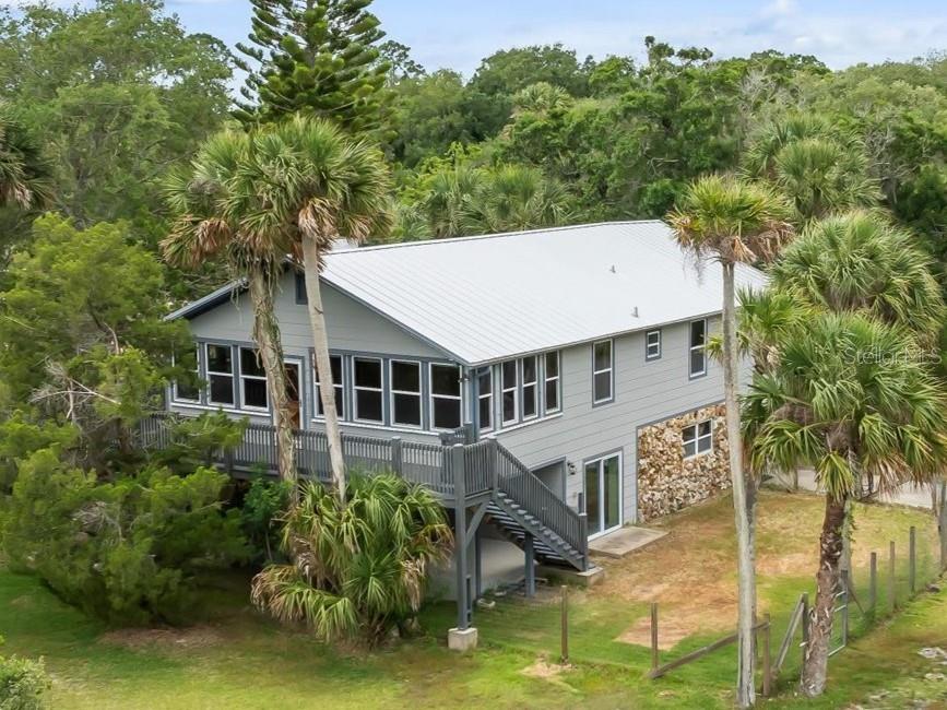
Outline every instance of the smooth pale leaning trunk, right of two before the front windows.
<path fill-rule="evenodd" d="M 322 292 L 319 287 L 321 255 L 313 239 L 303 238 L 303 268 L 306 273 L 306 298 L 309 301 L 309 322 L 312 327 L 312 346 L 316 353 L 316 371 L 319 374 L 319 399 L 325 416 L 325 438 L 329 441 L 329 462 L 332 482 L 339 501 L 345 505 L 345 459 L 342 457 L 342 431 L 335 412 L 335 388 L 332 381 L 332 363 L 329 359 L 329 334 L 325 331 L 325 313 L 322 310 Z"/>

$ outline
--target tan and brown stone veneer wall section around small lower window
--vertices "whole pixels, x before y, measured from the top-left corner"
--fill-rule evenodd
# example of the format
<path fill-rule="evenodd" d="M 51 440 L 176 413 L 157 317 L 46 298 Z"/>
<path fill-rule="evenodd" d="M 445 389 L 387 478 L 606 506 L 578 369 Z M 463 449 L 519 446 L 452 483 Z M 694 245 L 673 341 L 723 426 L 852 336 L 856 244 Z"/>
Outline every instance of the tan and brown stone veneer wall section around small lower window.
<path fill-rule="evenodd" d="M 685 426 L 713 419 L 713 448 L 684 460 Z M 723 404 L 638 429 L 638 519 L 653 520 L 730 488 Z"/>

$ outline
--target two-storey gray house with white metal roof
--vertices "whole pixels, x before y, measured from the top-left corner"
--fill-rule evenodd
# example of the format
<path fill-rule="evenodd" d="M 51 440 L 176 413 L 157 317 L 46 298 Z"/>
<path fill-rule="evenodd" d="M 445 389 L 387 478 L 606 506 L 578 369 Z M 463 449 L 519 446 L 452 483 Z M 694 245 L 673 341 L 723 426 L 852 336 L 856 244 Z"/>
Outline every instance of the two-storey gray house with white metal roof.
<path fill-rule="evenodd" d="M 722 372 L 705 351 L 721 272 L 698 269 L 662 222 L 342 247 L 325 261 L 333 387 L 353 441 L 440 447 L 463 430 L 467 445 L 501 449 L 510 471 L 541 482 L 535 496 L 552 493 L 555 504 L 520 501 L 537 506 L 533 517 L 561 506 L 556 519 L 578 516 L 592 539 L 727 485 Z M 765 283 L 749 267 L 737 281 Z M 277 316 L 300 434 L 316 436 L 305 289 L 289 271 Z M 206 383 L 171 388 L 169 410 L 269 424 L 240 285 L 169 318 L 188 319 Z M 495 505 L 481 519 L 516 513 Z M 521 544 L 542 544 L 520 533 Z"/>

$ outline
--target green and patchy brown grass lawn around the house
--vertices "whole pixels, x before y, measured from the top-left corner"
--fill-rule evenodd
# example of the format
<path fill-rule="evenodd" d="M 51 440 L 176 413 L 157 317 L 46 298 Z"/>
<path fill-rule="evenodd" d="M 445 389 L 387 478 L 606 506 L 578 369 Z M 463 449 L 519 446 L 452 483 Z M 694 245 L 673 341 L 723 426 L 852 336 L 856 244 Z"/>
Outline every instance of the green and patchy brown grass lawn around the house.
<path fill-rule="evenodd" d="M 821 501 L 814 496 L 770 493 L 761 498 L 760 607 L 773 616 L 774 648 L 800 592 L 812 587 L 820 517 Z M 855 520 L 853 560 L 860 587 L 868 552 L 887 551 L 892 539 L 907 549 L 910 525 L 919 529 L 919 551 L 928 565 L 919 579 L 928 578 L 935 549 L 928 513 L 860 507 Z M 660 627 L 674 631 L 676 625 L 683 635 L 673 649 L 662 651 L 662 660 L 732 627 L 735 570 L 729 500 L 698 506 L 662 526 L 666 537 L 609 563 L 601 588 L 570 592 L 575 665 L 568 670 L 555 663 L 556 590 L 531 601 L 499 599 L 495 608 L 478 610 L 481 647 L 475 653 L 461 656 L 445 647 L 443 630 L 453 623 L 451 604 L 425 610 L 428 636 L 368 653 L 333 650 L 303 631 L 268 622 L 249 607 L 247 580 L 236 576 L 211 580 L 204 595 L 213 613 L 201 626 L 108 631 L 62 604 L 35 578 L 0 570 L 0 634 L 8 640 L 5 652 L 46 658 L 55 678 L 54 707 L 731 707 L 733 648 L 648 681 L 649 649 L 627 642 L 629 635 L 647 632 L 643 622 L 651 600 L 661 603 Z M 879 561 L 881 569 L 887 568 Z M 903 566 L 898 583 L 905 600 Z M 879 610 L 885 604 L 883 596 Z M 793 697 L 795 652 L 784 673 L 783 695 L 769 705 L 839 707 L 887 689 L 890 707 L 903 707 L 908 700 L 936 695 L 936 684 L 924 679 L 932 662 L 916 651 L 947 648 L 947 594 L 923 594 L 871 631 L 853 607 L 852 626 L 861 636 L 832 659 L 826 698 L 812 702 Z"/>

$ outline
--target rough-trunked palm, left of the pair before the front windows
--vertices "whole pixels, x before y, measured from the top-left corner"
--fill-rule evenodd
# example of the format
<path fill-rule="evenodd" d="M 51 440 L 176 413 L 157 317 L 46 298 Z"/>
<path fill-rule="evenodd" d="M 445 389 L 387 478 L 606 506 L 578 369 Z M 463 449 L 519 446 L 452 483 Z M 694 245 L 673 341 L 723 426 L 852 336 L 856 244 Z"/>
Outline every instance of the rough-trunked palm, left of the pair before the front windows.
<path fill-rule="evenodd" d="M 201 146 L 188 170 L 168 177 L 165 193 L 178 216 L 162 241 L 162 250 L 169 263 L 184 268 L 197 268 L 208 260 L 224 261 L 236 276 L 246 280 L 253 305 L 253 340 L 273 406 L 280 477 L 292 484 L 291 500 L 295 501 L 293 417 L 274 308 L 275 285 L 289 245 L 280 229 L 251 230 L 248 226 L 267 205 L 260 185 L 247 179 L 252 146 L 251 134 L 218 133 Z"/>

